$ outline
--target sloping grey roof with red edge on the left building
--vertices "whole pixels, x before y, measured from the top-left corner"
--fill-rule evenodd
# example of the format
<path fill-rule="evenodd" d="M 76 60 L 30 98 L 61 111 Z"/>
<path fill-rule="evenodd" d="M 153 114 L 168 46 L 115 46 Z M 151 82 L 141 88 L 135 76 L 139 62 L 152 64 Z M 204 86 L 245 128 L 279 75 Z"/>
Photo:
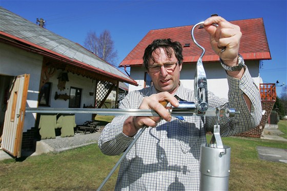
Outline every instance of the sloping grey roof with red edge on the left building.
<path fill-rule="evenodd" d="M 0 7 L 0 22 L 0 37 L 3 35 L 53 56 L 64 58 L 85 70 L 137 85 L 136 81 L 79 44 L 39 27 L 2 7 Z"/>

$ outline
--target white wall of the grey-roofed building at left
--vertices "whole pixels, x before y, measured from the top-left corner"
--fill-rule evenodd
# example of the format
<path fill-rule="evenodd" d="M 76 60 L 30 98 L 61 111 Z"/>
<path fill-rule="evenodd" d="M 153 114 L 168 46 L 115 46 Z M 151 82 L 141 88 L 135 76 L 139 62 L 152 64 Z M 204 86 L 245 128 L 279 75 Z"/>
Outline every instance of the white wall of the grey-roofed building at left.
<path fill-rule="evenodd" d="M 22 74 L 30 74 L 29 88 L 26 107 L 36 108 L 38 105 L 39 82 L 42 71 L 43 56 L 29 53 L 22 49 L 18 49 L 6 44 L 0 43 L 0 75 L 17 76 Z M 69 81 L 66 82 L 66 89 L 60 91 L 57 88 L 57 77 L 61 70 L 57 70 L 55 74 L 49 79 L 52 82 L 52 90 L 50 96 L 50 108 L 68 108 L 69 100 L 64 99 L 55 100 L 55 92 L 58 94 L 70 95 L 70 87 L 81 88 L 81 108 L 85 103 L 86 106 L 94 105 L 94 97 L 89 95 L 92 90 L 95 91 L 95 80 L 83 77 L 81 75 L 68 73 Z M 43 108 L 43 107 L 42 107 Z M 35 126 L 35 114 L 26 113 L 24 130 L 31 129 Z M 83 124 L 87 120 L 92 119 L 92 114 L 76 114 L 76 124 Z"/>

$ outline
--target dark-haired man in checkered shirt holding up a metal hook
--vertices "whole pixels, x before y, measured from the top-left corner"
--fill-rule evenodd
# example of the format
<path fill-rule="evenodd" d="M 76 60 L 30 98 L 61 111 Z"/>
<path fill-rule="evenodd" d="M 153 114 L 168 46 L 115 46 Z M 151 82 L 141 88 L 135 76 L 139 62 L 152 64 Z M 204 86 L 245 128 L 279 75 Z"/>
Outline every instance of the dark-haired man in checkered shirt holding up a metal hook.
<path fill-rule="evenodd" d="M 247 67 L 241 66 L 242 59 L 238 56 L 240 28 L 219 16 L 208 18 L 203 25 L 223 67 L 236 70 L 227 71 L 229 101 L 208 93 L 209 107 L 240 111 L 234 118 L 220 118 L 220 134 L 231 136 L 254 128 L 261 120 L 260 94 Z M 222 47 L 226 50 L 221 53 Z M 101 133 L 100 150 L 106 155 L 119 155 L 138 130 L 149 126 L 122 161 L 115 189 L 197 190 L 200 145 L 207 142 L 206 132 L 213 130 L 215 119 L 186 116 L 181 120 L 171 117 L 159 103 L 168 101 L 177 107 L 177 98 L 196 102 L 194 91 L 184 88 L 179 81 L 183 57 L 178 42 L 154 40 L 145 50 L 143 59 L 153 86 L 130 92 L 120 108 L 152 109 L 160 117 L 117 116 Z"/>

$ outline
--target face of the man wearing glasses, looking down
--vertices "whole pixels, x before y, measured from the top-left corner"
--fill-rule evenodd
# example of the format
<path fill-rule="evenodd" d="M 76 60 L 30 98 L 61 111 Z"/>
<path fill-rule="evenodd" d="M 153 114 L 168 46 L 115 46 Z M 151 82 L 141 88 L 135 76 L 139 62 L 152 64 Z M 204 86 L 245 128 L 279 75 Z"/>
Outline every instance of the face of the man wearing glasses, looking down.
<path fill-rule="evenodd" d="M 165 49 L 158 48 L 152 53 L 153 59 L 149 59 L 149 67 L 163 66 L 170 63 L 176 63 L 178 60 L 172 50 L 172 56 L 168 57 Z M 169 92 L 174 94 L 178 88 L 179 75 L 182 65 L 177 64 L 173 70 L 167 70 L 165 67 L 160 67 L 159 71 L 148 71 L 153 85 L 158 92 Z"/>

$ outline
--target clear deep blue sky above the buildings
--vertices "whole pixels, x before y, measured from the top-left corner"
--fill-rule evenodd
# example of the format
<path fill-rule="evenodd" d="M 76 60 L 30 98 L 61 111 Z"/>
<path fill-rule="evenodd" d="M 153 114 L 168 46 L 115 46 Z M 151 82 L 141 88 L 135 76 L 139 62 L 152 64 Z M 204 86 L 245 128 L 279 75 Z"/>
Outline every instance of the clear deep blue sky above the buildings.
<path fill-rule="evenodd" d="M 263 18 L 272 60 L 263 60 L 264 83 L 287 83 L 287 5 L 284 1 L 7 1 L 0 6 L 84 45 L 89 31 L 109 30 L 118 63 L 153 29 L 194 25 L 218 14 L 227 20 Z M 254 26 L 256 27 L 256 26 Z M 286 86 L 286 85 L 285 85 Z M 277 87 L 281 95 L 282 87 Z"/>

